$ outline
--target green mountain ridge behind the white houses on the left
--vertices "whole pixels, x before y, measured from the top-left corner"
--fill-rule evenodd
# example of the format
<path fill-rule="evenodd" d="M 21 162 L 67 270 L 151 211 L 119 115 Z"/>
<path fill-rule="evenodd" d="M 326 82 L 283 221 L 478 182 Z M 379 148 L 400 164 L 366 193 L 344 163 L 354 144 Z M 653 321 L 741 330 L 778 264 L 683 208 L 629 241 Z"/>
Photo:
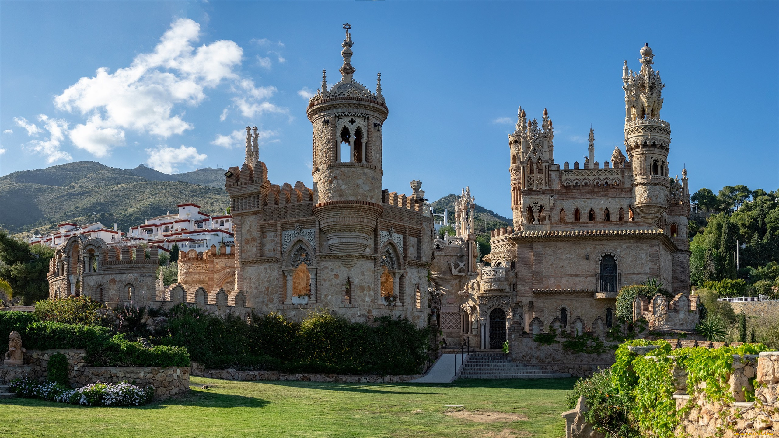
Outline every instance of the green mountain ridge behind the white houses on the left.
<path fill-rule="evenodd" d="M 139 168 L 124 170 L 95 161 L 76 161 L 5 175 L 0 178 L 0 227 L 14 233 L 46 232 L 62 222 L 100 221 L 107 227 L 116 222 L 126 231 L 145 219 L 175 210 L 180 203 L 196 203 L 209 214 L 230 205 L 227 192 L 213 186 L 219 172 L 224 185 L 221 169 L 167 175 L 146 168 L 150 177 L 164 178 L 151 173 L 157 172 L 173 178 L 160 181 L 138 175 L 136 171 L 143 171 Z M 193 184 L 182 176 L 209 185 Z"/>

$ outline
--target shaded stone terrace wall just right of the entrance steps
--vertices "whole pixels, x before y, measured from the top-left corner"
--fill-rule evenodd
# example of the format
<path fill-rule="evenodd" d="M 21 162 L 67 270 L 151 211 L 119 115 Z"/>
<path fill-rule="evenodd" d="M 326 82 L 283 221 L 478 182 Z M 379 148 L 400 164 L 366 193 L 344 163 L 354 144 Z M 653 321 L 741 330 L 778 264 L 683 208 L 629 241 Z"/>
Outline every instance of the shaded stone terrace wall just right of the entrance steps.
<path fill-rule="evenodd" d="M 558 341 L 561 339 L 558 338 Z M 539 366 L 541 369 L 559 373 L 571 373 L 577 377 L 591 376 L 599 369 L 608 369 L 615 362 L 613 349 L 600 355 L 574 353 L 562 348 L 562 344 L 538 343 L 533 340 L 531 334 L 514 335 L 510 351 L 513 362 Z"/>

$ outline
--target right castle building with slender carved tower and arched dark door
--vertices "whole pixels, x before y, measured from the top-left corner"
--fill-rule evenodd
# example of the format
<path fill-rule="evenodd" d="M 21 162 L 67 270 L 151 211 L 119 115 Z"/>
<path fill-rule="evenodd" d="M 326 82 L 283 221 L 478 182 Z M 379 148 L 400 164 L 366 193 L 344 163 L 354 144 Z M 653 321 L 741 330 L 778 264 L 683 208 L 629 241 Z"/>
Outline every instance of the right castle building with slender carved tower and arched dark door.
<path fill-rule="evenodd" d="M 698 322 L 689 297 L 687 171 L 682 178 L 669 173 L 664 84 L 652 50 L 645 46 L 640 55 L 639 72 L 627 63 L 622 70 L 626 154 L 615 147 L 611 164 L 595 160 L 592 129 L 583 164 L 556 163 L 548 111 L 539 121 L 520 108 L 508 150 L 513 224 L 492 231 L 489 267 L 471 262 L 473 201 L 470 193 L 460 197 L 456 210 L 466 225 L 433 244 L 432 281 L 447 344 L 470 337 L 471 346 L 500 348 L 512 330 L 538 334 L 548 327 L 603 334 L 615 323 L 619 289 L 647 278 L 676 295 L 658 302 L 656 314 L 641 310 L 652 327 L 690 330 Z"/>

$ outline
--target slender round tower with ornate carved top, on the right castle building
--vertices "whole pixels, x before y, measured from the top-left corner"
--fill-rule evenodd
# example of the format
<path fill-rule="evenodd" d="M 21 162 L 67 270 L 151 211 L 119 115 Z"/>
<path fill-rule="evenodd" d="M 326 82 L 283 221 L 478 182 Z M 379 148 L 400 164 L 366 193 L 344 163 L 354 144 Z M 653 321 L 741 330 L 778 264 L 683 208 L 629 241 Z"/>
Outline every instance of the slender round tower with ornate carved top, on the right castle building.
<path fill-rule="evenodd" d="M 641 69 L 622 69 L 625 86 L 625 146 L 633 164 L 633 212 L 636 221 L 659 226 L 668 207 L 671 178 L 668 150 L 671 125 L 660 119 L 664 84 L 654 71 L 649 44 L 640 51 Z"/>

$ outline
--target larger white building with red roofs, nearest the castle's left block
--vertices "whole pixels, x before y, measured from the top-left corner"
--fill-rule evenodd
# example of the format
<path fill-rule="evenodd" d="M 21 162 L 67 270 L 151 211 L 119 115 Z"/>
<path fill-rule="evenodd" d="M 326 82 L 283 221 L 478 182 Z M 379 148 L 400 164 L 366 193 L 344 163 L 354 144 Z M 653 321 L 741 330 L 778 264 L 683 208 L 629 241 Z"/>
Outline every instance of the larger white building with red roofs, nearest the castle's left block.
<path fill-rule="evenodd" d="M 127 236 L 142 238 L 147 242 L 170 250 L 178 244 L 178 249 L 208 249 L 211 245 L 233 245 L 233 221 L 230 214 L 210 216 L 202 213 L 200 206 L 184 203 L 178 207 L 178 213 L 146 219 L 143 224 L 131 227 Z M 229 251 L 229 249 L 227 249 Z"/>

